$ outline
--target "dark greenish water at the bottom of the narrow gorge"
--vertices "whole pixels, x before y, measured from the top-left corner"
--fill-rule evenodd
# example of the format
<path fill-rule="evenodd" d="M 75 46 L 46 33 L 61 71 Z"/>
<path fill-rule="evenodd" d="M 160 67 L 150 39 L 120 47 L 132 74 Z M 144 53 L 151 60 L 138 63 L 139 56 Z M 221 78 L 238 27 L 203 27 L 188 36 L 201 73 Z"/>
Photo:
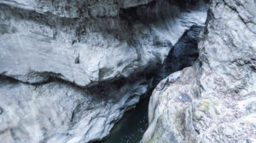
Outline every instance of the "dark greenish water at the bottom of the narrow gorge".
<path fill-rule="evenodd" d="M 136 108 L 126 112 L 107 139 L 100 143 L 139 143 L 148 128 L 148 101 L 149 96 L 141 100 Z"/>

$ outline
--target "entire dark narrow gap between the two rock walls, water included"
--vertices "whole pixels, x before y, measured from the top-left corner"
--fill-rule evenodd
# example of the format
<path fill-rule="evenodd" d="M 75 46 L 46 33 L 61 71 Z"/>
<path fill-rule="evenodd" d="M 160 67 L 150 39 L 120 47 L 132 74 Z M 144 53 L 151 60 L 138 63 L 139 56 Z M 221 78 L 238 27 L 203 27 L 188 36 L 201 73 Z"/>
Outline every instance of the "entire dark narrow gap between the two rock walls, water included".
<path fill-rule="evenodd" d="M 144 99 L 137 104 L 136 108 L 126 112 L 124 117 L 115 124 L 109 136 L 102 141 L 94 143 L 139 143 L 143 133 L 148 128 L 148 102 L 154 87 L 162 79 L 173 72 L 192 66 L 198 58 L 198 36 L 201 26 L 192 26 L 183 33 L 178 42 L 172 47 L 163 64 L 154 75 L 154 80 L 148 87 Z"/>

